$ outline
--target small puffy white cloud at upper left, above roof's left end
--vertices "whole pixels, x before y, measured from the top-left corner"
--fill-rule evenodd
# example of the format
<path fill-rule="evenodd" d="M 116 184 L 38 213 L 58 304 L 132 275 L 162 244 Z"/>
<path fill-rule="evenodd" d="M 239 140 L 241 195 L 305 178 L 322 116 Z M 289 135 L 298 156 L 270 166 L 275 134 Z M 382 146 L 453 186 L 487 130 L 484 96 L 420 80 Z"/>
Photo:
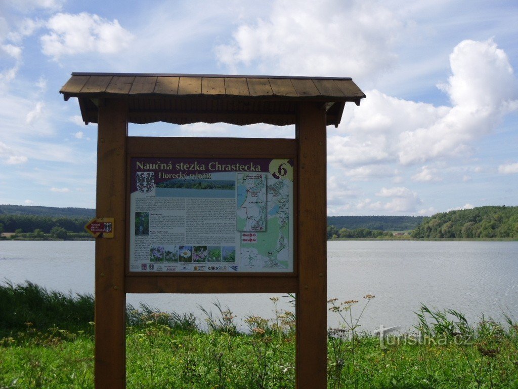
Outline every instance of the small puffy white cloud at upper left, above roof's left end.
<path fill-rule="evenodd" d="M 133 35 L 114 19 L 81 12 L 57 13 L 47 22 L 48 34 L 41 37 L 44 54 L 58 61 L 63 55 L 98 52 L 113 54 L 126 49 Z"/>

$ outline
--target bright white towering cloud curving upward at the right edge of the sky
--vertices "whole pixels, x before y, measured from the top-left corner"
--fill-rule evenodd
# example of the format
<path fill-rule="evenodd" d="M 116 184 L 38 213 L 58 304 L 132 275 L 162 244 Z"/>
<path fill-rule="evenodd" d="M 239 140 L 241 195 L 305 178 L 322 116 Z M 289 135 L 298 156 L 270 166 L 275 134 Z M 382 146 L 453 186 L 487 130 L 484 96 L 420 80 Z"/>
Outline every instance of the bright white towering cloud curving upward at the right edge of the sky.
<path fill-rule="evenodd" d="M 452 76 L 440 88 L 453 106 L 431 126 L 399 135 L 403 164 L 462 154 L 470 142 L 494 130 L 516 97 L 512 67 L 493 40 L 462 41 L 450 55 L 450 65 Z"/>

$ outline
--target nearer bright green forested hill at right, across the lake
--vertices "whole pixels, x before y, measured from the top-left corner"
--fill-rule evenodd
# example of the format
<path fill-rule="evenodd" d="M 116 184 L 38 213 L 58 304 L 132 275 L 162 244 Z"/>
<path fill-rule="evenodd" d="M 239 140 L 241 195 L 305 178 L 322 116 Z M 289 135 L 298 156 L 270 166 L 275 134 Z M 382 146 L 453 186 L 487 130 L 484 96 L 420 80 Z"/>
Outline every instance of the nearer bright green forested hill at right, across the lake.
<path fill-rule="evenodd" d="M 518 238 L 518 206 L 481 206 L 425 217 L 413 238 Z"/>

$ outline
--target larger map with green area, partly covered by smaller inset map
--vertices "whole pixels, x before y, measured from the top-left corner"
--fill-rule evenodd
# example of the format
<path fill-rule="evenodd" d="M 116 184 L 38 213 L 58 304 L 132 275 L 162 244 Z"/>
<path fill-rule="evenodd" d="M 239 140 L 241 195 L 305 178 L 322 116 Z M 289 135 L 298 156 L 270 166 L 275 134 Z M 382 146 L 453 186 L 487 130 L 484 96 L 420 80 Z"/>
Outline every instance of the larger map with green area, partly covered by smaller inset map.
<path fill-rule="evenodd" d="M 241 268 L 288 268 L 289 195 L 289 180 L 268 179 L 266 230 L 241 233 Z"/>

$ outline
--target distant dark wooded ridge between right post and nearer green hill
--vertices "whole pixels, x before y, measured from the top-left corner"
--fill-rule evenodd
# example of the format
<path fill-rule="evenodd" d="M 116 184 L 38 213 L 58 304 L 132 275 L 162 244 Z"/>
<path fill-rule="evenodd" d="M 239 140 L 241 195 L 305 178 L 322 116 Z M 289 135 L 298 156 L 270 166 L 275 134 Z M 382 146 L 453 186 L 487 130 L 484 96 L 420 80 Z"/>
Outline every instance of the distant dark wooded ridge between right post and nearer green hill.
<path fill-rule="evenodd" d="M 327 216 L 327 225 L 338 229 L 405 231 L 413 230 L 423 221 L 423 216 Z"/>

